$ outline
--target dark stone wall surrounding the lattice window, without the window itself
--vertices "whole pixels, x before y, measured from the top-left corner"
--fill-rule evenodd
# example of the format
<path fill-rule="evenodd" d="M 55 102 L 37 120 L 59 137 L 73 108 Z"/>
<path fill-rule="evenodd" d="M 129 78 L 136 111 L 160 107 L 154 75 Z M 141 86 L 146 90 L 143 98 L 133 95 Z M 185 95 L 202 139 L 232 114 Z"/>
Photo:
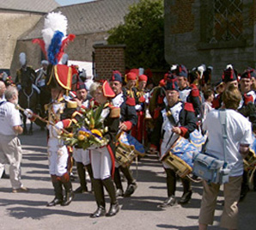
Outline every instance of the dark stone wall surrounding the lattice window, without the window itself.
<path fill-rule="evenodd" d="M 255 68 L 256 1 L 242 1 L 242 39 L 209 43 L 205 37 L 212 3 L 212 0 L 165 0 L 165 58 L 168 64 L 185 64 L 188 69 L 200 64 L 212 65 L 216 82 L 226 64 L 233 64 L 238 72 L 247 66 Z"/>

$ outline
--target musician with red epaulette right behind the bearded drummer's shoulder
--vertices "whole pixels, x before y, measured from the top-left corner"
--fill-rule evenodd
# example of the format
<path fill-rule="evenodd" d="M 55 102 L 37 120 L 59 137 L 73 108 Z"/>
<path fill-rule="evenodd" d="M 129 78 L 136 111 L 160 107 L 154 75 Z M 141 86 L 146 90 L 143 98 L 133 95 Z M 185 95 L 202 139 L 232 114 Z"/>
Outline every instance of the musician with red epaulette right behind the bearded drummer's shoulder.
<path fill-rule="evenodd" d="M 179 86 L 180 100 L 192 103 L 196 116 L 199 117 L 201 112 L 201 100 L 199 98 L 198 88 L 194 84 L 190 85 L 188 81 L 188 71 L 185 65 L 178 65 L 175 72 Z M 196 79 L 193 78 L 193 80 Z M 191 81 L 191 83 L 193 82 L 194 81 Z"/>

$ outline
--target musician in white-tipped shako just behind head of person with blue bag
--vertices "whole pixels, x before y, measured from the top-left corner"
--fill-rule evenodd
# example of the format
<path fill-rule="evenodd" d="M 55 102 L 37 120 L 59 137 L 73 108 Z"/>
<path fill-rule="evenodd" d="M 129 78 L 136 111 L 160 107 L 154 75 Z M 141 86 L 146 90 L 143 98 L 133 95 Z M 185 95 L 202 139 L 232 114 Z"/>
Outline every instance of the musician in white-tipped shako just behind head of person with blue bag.
<path fill-rule="evenodd" d="M 238 76 L 237 71 L 233 68 L 232 64 L 228 64 L 226 69 L 222 73 L 222 84 L 223 91 L 226 88 L 229 88 L 230 85 L 233 85 L 235 88 L 238 88 Z M 212 107 L 219 109 L 222 106 L 222 93 L 218 94 L 216 98 L 212 101 Z"/>

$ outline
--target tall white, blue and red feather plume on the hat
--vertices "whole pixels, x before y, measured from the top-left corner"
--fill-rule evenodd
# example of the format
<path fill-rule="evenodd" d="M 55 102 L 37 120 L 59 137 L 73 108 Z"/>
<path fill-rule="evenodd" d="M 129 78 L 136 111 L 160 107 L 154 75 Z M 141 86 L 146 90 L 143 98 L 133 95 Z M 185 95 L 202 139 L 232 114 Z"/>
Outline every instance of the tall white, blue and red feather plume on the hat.
<path fill-rule="evenodd" d="M 61 12 L 49 13 L 42 29 L 43 39 L 33 40 L 33 43 L 40 45 L 49 63 L 53 65 L 58 64 L 64 55 L 64 48 L 76 37 L 74 34 L 66 34 L 67 27 L 68 20 Z"/>

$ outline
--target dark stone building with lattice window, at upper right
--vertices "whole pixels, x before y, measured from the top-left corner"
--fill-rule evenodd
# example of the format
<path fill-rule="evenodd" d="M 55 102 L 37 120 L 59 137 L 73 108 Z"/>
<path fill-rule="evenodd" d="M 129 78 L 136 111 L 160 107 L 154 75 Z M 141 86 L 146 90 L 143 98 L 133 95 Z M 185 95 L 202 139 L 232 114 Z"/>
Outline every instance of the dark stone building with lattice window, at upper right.
<path fill-rule="evenodd" d="M 165 0 L 165 56 L 168 64 L 226 64 L 238 72 L 255 68 L 255 0 Z"/>

